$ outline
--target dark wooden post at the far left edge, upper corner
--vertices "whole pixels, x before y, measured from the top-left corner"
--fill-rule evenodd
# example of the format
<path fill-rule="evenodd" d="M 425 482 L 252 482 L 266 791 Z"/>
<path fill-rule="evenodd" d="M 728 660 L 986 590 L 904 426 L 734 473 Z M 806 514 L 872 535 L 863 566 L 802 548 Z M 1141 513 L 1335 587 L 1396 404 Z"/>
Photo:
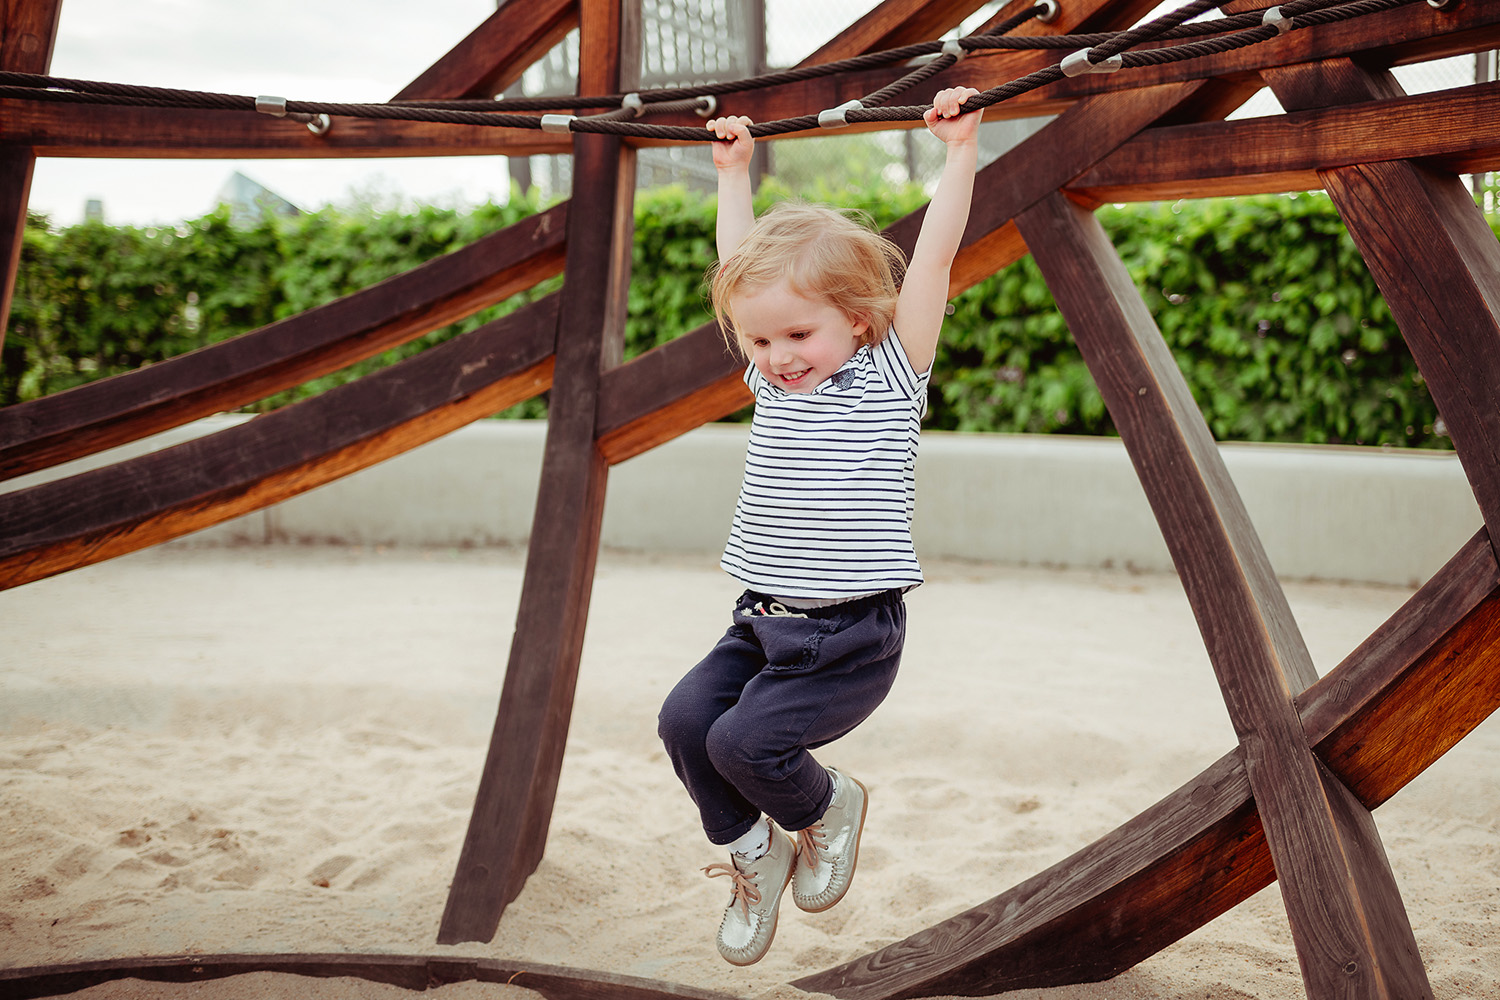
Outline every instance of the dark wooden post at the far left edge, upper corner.
<path fill-rule="evenodd" d="M 0 69 L 45 73 L 52 63 L 62 10 L 63 0 L 0 0 Z M 15 273 L 21 264 L 34 166 L 32 147 L 0 144 L 0 346 L 4 346 L 10 295 L 15 294 Z"/>

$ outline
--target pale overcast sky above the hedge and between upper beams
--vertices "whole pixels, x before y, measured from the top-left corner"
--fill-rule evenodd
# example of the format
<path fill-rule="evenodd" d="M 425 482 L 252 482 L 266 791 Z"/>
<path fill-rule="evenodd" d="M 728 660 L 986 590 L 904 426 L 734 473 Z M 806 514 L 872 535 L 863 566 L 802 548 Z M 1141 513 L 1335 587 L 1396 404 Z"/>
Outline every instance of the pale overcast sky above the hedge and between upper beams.
<path fill-rule="evenodd" d="M 772 10 L 778 3 L 771 0 Z M 801 34 L 826 37 L 840 18 L 848 24 L 870 6 L 873 0 L 826 0 L 814 6 L 826 28 L 804 24 L 810 30 Z M 494 0 L 64 0 L 51 72 L 294 100 L 381 102 L 494 9 Z M 800 16 L 810 15 L 804 9 Z M 478 204 L 502 199 L 510 183 L 500 156 L 342 162 L 40 157 L 30 204 L 56 225 L 78 222 L 90 198 L 104 202 L 111 223 L 171 223 L 210 211 L 234 171 L 310 210 L 358 193 Z"/>

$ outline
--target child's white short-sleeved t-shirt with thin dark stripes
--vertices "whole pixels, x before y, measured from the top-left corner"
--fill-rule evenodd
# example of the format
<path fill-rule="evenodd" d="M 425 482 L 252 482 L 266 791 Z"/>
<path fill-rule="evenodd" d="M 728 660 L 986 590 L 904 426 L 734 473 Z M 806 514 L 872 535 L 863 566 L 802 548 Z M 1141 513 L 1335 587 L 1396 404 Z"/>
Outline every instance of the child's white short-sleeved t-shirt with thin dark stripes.
<path fill-rule="evenodd" d="M 771 385 L 753 363 L 744 378 L 754 420 L 718 564 L 752 591 L 789 598 L 921 583 L 912 511 L 927 373 L 896 331 L 812 393 Z"/>

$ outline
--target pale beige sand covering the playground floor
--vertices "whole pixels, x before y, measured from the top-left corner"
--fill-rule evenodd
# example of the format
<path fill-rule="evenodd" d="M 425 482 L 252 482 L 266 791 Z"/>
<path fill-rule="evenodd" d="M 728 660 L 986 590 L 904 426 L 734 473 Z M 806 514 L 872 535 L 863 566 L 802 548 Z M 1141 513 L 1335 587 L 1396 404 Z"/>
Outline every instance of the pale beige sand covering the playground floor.
<path fill-rule="evenodd" d="M 604 553 L 546 858 L 495 940 L 434 943 L 524 553 L 164 547 L 0 594 L 0 966 L 183 952 L 502 957 L 742 997 L 1065 858 L 1233 745 L 1170 576 L 928 564 L 861 777 L 860 877 L 735 970 L 718 861 L 656 709 L 723 630 L 710 559 Z M 1320 672 L 1410 591 L 1292 583 Z M 1434 993 L 1500 997 L 1500 724 L 1377 813 Z M 532 996 L 456 984 L 426 996 Z M 104 997 L 399 997 L 356 981 L 124 981 Z M 1302 997 L 1275 886 L 1107 984 L 1034 1000 Z"/>

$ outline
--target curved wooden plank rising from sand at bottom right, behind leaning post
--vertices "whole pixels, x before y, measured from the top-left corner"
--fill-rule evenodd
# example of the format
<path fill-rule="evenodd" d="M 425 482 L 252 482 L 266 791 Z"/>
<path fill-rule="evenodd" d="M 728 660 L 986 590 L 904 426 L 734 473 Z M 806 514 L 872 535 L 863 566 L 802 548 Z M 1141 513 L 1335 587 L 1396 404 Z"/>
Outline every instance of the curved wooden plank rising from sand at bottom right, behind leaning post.
<path fill-rule="evenodd" d="M 1500 708 L 1500 565 L 1488 535 L 1474 535 L 1299 700 L 1308 744 L 1366 807 L 1389 799 Z M 1274 877 L 1234 751 L 1047 871 L 792 985 L 888 1000 L 1096 982 Z"/>

